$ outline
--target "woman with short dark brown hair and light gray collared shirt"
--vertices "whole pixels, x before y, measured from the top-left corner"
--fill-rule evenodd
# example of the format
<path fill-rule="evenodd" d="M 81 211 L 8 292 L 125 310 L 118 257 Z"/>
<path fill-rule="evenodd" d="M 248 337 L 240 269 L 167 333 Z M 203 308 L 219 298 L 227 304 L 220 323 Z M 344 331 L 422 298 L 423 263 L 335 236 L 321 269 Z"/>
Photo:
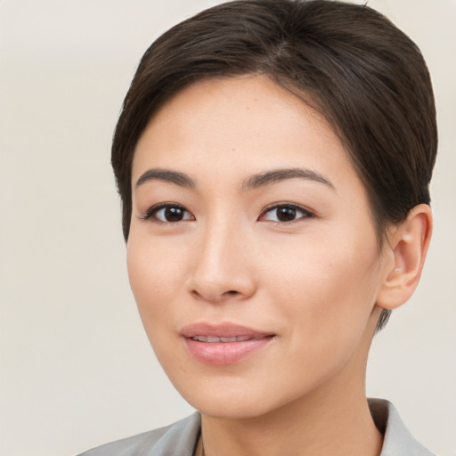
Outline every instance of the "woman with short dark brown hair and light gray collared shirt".
<path fill-rule="evenodd" d="M 435 159 L 426 64 L 368 7 L 232 2 L 159 37 L 112 165 L 144 328 L 199 412 L 85 455 L 432 454 L 364 377 Z"/>

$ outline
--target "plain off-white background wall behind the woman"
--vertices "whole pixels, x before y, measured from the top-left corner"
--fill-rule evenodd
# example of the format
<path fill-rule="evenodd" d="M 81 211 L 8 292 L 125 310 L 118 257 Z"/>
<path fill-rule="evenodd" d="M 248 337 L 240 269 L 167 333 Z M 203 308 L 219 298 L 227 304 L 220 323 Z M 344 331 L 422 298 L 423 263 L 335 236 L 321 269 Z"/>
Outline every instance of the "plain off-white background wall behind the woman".
<path fill-rule="evenodd" d="M 191 412 L 128 287 L 110 137 L 159 33 L 209 0 L 0 0 L 0 455 L 57 456 Z M 436 90 L 436 229 L 418 292 L 374 340 L 368 393 L 456 454 L 456 2 L 372 0 Z"/>

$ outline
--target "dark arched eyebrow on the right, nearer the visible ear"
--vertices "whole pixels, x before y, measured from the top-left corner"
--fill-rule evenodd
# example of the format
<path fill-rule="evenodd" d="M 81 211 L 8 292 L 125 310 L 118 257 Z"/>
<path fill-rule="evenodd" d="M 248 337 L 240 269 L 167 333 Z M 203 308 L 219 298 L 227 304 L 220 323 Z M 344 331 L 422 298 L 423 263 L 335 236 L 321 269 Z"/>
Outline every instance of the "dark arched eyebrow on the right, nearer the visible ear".
<path fill-rule="evenodd" d="M 283 169 L 273 169 L 266 171 L 265 173 L 252 175 L 242 185 L 245 190 L 257 189 L 259 187 L 265 187 L 266 185 L 272 185 L 273 183 L 280 183 L 289 179 L 306 179 L 317 183 L 323 183 L 330 187 L 331 190 L 336 190 L 336 187 L 327 179 L 324 175 L 313 171 L 312 169 L 306 169 L 301 167 L 291 167 Z"/>

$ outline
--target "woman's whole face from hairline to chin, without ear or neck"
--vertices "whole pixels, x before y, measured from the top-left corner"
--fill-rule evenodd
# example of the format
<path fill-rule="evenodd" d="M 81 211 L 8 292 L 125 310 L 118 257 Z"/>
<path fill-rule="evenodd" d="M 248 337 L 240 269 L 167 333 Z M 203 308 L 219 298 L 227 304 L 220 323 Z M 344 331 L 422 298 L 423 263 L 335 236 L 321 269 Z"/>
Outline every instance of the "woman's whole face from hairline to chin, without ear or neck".
<path fill-rule="evenodd" d="M 191 85 L 152 118 L 127 261 L 159 362 L 199 411 L 362 385 L 387 273 L 366 191 L 322 117 L 266 77 Z"/>

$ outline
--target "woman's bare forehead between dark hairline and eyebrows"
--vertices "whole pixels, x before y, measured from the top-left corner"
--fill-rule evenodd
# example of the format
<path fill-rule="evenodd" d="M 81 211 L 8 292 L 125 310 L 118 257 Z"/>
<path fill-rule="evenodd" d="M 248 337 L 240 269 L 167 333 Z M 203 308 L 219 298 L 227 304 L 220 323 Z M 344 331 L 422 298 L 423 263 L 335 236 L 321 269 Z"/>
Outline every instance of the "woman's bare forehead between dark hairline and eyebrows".
<path fill-rule="evenodd" d="M 209 79 L 175 94 L 136 145 L 133 180 L 147 167 L 191 174 L 208 162 L 213 174 L 230 168 L 240 178 L 255 167 L 305 166 L 357 179 L 322 115 L 268 77 Z"/>

